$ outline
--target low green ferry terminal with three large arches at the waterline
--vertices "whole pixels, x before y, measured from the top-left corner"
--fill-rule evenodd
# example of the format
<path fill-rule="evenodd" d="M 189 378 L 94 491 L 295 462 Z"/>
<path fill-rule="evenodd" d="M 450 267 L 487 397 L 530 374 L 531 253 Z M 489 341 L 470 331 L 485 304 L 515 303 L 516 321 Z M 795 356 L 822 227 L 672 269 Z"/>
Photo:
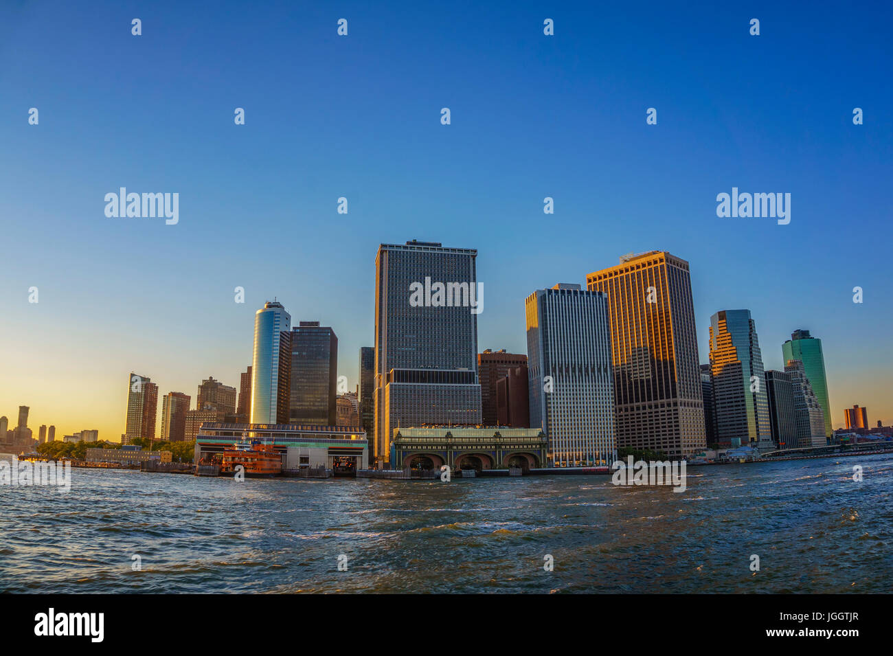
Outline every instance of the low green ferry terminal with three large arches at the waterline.
<path fill-rule="evenodd" d="M 395 428 L 394 469 L 511 469 L 546 466 L 548 438 L 539 428 Z"/>

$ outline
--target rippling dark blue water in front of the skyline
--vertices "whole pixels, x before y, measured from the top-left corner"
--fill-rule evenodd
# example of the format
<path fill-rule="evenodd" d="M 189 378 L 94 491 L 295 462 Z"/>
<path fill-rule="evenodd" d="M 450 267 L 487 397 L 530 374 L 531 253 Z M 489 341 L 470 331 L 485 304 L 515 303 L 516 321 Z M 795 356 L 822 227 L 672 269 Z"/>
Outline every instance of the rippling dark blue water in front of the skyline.
<path fill-rule="evenodd" d="M 0 592 L 893 590 L 889 454 L 691 467 L 682 494 L 605 476 L 72 476 L 68 494 L 0 486 Z"/>

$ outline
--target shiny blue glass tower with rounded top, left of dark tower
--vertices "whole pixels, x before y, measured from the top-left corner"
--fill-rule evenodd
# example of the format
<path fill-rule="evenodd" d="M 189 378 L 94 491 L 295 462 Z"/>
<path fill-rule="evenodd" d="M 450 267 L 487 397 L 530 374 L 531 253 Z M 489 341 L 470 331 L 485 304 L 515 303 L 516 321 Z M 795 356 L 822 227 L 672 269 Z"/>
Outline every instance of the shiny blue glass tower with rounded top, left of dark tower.
<path fill-rule="evenodd" d="M 255 312 L 255 353 L 251 363 L 251 423 L 287 424 L 289 363 L 280 358 L 282 333 L 291 330 L 291 315 L 282 303 L 267 301 Z M 199 408 L 201 410 L 201 408 Z"/>

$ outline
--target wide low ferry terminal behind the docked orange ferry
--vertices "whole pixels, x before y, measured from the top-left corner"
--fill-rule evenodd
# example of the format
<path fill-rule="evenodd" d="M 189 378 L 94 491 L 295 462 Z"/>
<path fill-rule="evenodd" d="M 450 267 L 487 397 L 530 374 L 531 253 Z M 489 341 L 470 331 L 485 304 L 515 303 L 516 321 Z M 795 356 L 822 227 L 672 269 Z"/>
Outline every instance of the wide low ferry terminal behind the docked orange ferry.
<path fill-rule="evenodd" d="M 209 422 L 196 436 L 194 462 L 209 461 L 245 439 L 272 444 L 282 456 L 283 470 L 335 469 L 336 465 L 369 469 L 369 448 L 363 429 L 293 424 L 229 424 Z"/>

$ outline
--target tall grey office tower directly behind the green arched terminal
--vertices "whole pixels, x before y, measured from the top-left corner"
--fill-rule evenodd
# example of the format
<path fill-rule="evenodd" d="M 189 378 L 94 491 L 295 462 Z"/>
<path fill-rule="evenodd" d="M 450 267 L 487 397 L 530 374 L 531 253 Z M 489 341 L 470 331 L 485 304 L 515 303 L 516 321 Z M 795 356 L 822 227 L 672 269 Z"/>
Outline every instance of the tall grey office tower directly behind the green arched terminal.
<path fill-rule="evenodd" d="M 375 257 L 375 454 L 394 429 L 480 424 L 473 248 L 382 244 Z"/>

